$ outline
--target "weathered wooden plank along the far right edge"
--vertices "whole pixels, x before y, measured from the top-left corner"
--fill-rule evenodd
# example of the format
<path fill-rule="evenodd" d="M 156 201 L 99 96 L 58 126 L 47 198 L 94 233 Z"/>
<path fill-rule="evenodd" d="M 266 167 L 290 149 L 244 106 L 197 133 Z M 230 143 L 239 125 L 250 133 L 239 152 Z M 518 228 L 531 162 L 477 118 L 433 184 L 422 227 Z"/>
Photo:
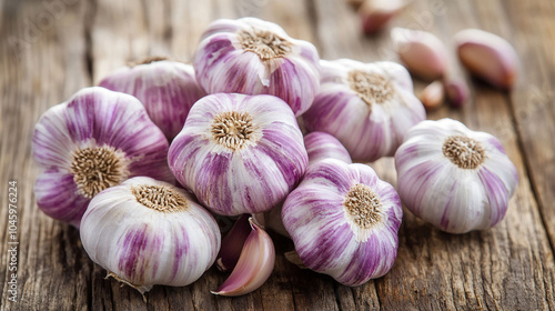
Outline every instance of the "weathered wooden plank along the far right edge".
<path fill-rule="evenodd" d="M 521 79 L 511 96 L 524 158 L 542 219 L 555 250 L 555 22 L 553 2 L 502 2 L 512 26 L 503 34 L 521 56 Z M 534 18 L 528 18 L 534 17 Z"/>

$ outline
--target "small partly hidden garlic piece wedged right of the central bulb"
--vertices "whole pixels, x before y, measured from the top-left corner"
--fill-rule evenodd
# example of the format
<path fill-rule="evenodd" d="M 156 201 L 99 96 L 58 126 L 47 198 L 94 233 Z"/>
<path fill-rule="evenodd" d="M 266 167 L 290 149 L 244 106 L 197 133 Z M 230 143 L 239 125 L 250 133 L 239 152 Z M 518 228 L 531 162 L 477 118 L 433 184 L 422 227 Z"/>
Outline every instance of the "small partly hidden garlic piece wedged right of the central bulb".
<path fill-rule="evenodd" d="M 352 163 L 349 151 L 333 136 L 325 132 L 312 132 L 304 137 L 304 147 L 309 153 L 309 164 L 323 159 L 337 159 Z"/>

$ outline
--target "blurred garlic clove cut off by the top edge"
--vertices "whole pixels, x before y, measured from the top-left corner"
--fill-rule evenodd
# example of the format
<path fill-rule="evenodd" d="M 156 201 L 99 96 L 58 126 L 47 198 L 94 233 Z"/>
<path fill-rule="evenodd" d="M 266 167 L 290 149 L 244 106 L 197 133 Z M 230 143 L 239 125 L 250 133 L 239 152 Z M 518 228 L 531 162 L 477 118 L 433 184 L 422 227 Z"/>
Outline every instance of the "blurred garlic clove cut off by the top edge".
<path fill-rule="evenodd" d="M 365 0 L 359 9 L 362 30 L 369 34 L 380 31 L 406 4 L 404 0 Z"/>

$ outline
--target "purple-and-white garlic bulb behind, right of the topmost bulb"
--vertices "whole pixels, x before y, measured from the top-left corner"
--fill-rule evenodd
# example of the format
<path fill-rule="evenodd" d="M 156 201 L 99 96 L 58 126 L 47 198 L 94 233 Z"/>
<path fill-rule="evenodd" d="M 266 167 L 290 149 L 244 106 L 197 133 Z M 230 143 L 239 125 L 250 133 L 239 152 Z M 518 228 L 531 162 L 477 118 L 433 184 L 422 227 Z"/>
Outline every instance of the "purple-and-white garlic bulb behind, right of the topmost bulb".
<path fill-rule="evenodd" d="M 320 92 L 303 116 L 306 129 L 334 136 L 353 160 L 393 156 L 404 133 L 426 118 L 402 66 L 349 59 L 321 63 Z"/>

